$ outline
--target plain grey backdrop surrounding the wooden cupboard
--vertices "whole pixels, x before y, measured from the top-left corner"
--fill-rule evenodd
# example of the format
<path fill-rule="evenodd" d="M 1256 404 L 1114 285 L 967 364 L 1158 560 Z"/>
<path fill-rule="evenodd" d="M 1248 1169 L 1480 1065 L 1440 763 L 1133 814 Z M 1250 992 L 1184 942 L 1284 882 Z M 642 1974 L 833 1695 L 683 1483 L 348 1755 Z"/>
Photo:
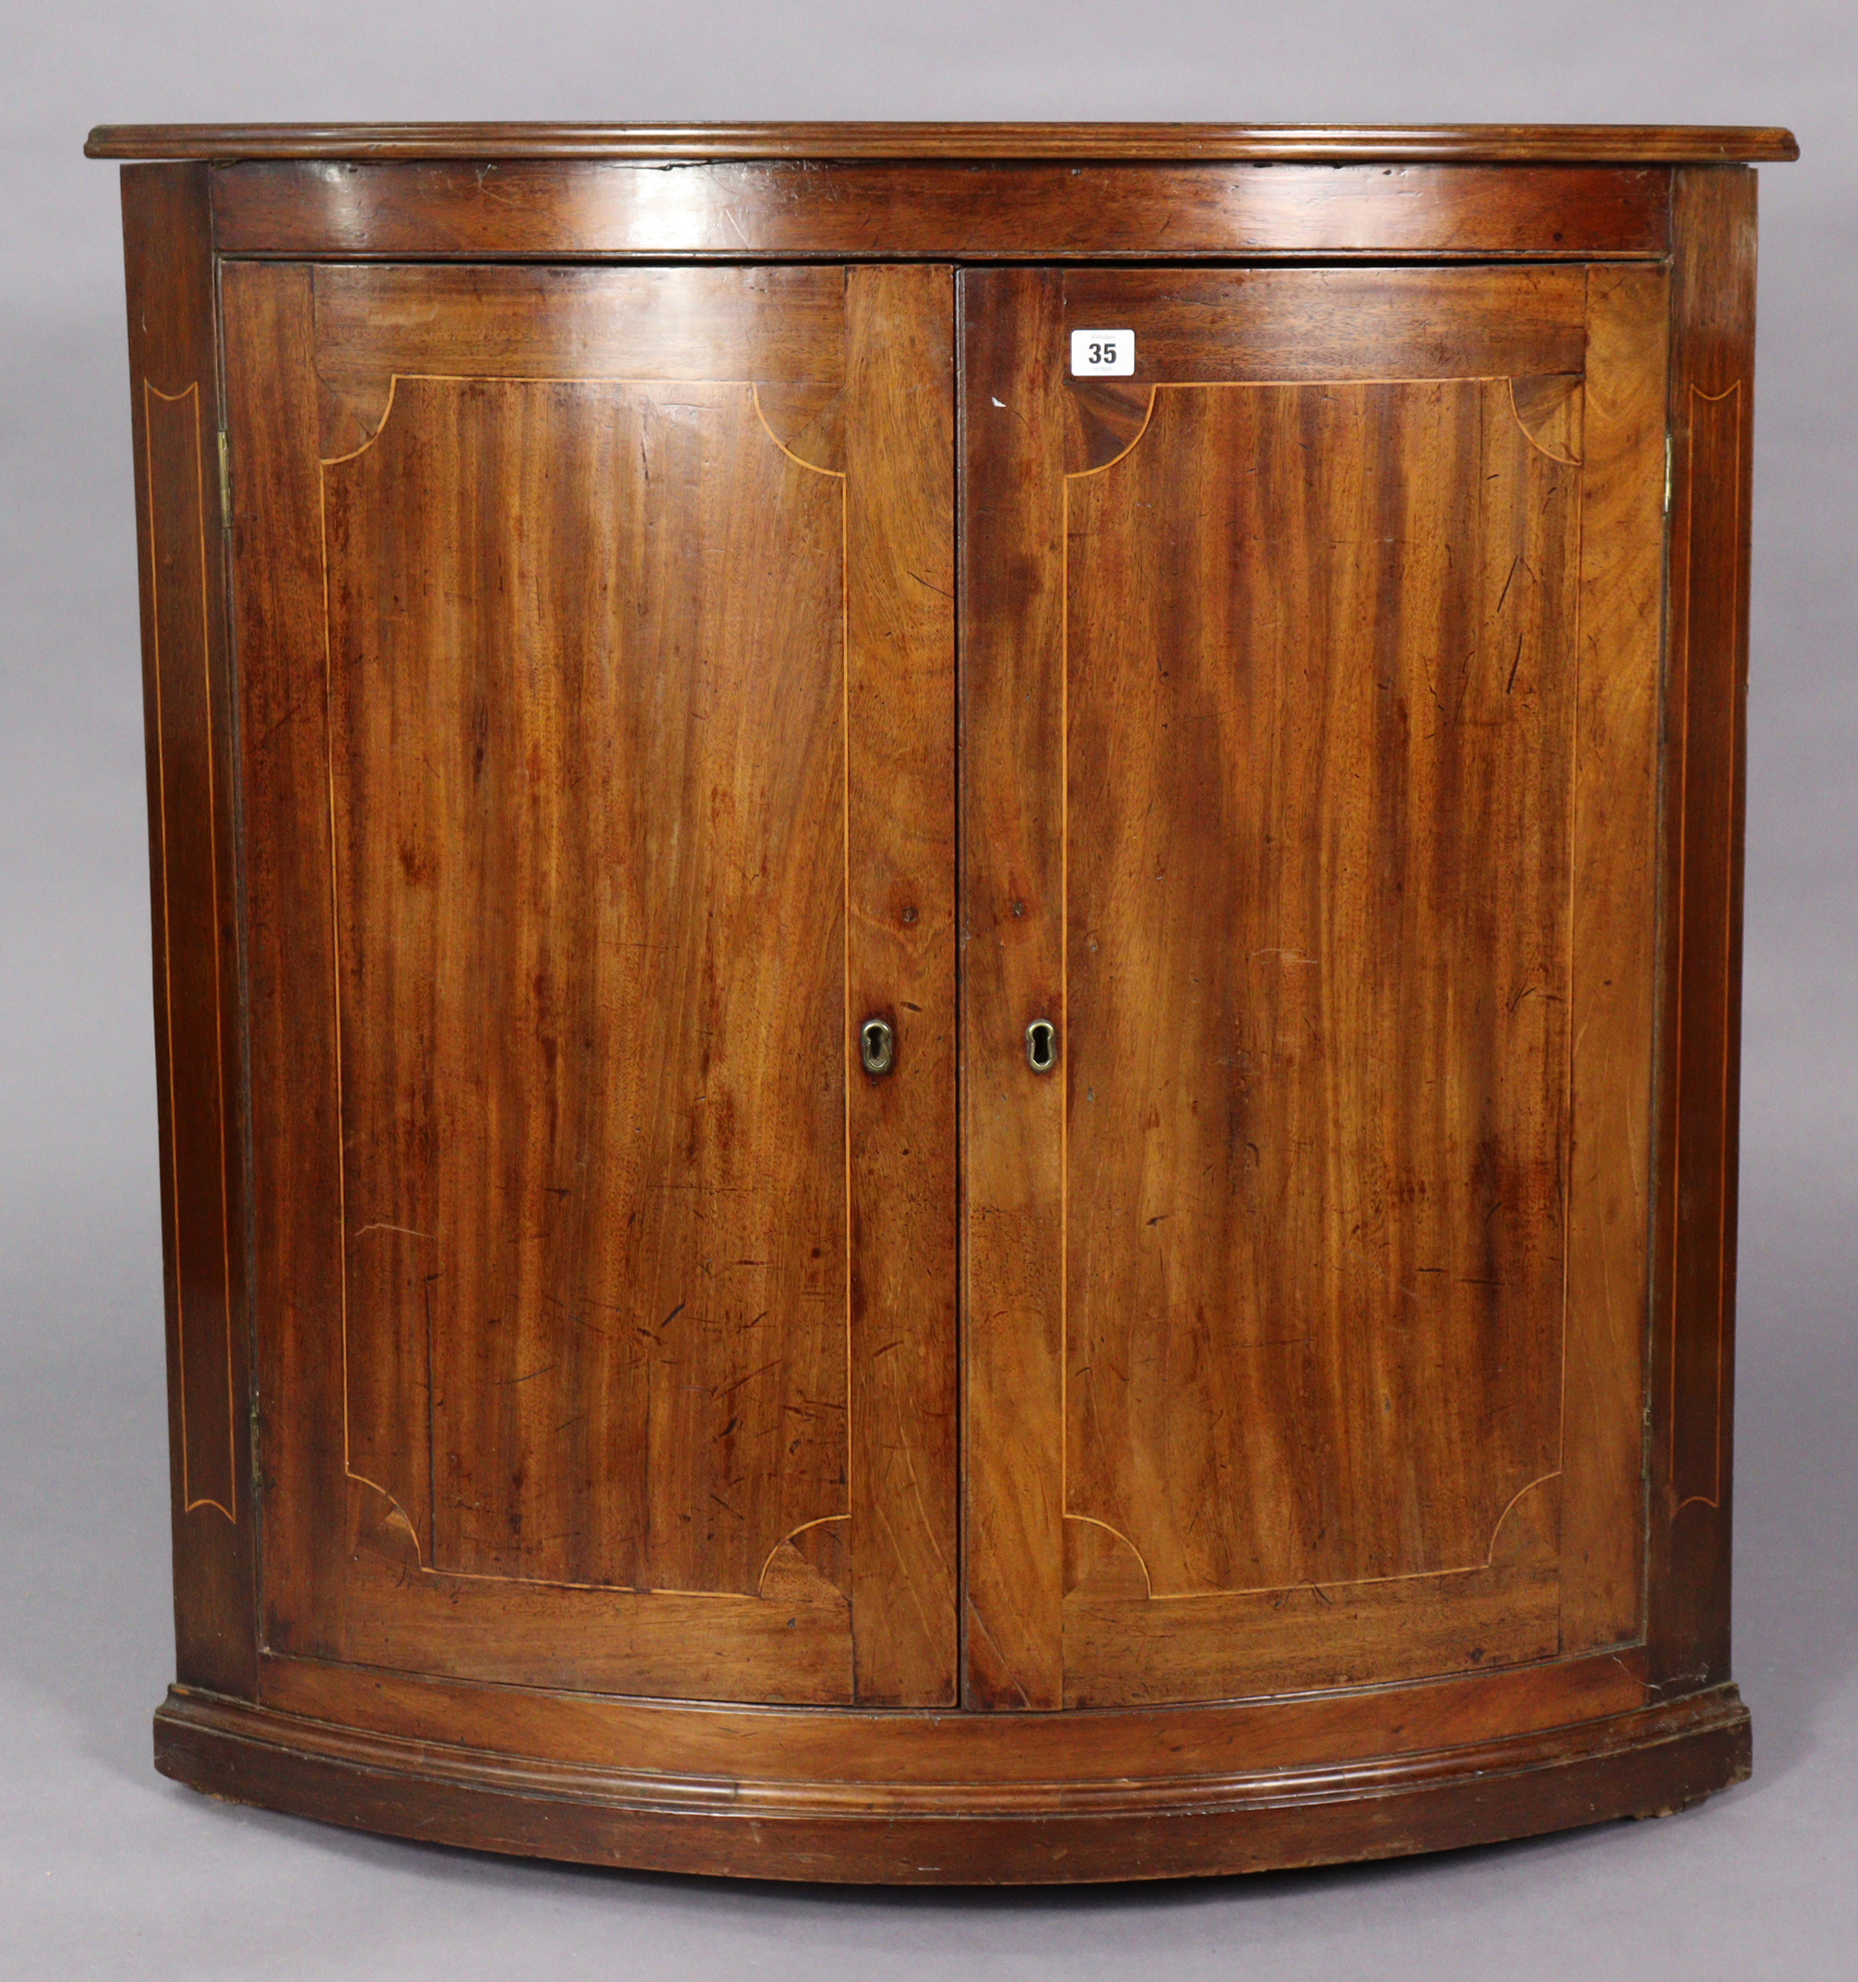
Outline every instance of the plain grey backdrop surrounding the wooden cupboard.
<path fill-rule="evenodd" d="M 1854 0 L 61 0 L 0 14 L 0 1978 L 1858 1976 Z M 1041 1895 L 575 1871 L 176 1790 L 129 392 L 99 121 L 1787 123 L 1763 172 L 1737 1669 L 1755 1780 Z"/>

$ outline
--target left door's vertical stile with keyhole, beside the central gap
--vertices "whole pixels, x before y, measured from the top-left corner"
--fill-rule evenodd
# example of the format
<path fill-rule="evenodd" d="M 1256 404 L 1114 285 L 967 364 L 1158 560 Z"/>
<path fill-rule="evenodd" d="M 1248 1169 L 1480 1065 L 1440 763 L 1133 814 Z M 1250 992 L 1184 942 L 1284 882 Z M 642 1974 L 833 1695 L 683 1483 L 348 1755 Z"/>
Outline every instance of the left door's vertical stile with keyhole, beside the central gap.
<path fill-rule="evenodd" d="M 847 971 L 857 1697 L 956 1701 L 954 274 L 851 270 Z"/>

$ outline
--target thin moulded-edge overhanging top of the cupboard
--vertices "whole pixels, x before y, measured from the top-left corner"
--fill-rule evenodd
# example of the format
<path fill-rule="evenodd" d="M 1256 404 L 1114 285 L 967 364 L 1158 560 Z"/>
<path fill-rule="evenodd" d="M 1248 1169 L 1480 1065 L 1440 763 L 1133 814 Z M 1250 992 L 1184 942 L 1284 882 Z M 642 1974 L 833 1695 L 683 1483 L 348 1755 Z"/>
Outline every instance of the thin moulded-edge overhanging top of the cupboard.
<path fill-rule="evenodd" d="M 99 125 L 91 159 L 914 159 L 1168 163 L 1755 165 L 1791 131 L 1743 125 L 420 123 Z"/>

